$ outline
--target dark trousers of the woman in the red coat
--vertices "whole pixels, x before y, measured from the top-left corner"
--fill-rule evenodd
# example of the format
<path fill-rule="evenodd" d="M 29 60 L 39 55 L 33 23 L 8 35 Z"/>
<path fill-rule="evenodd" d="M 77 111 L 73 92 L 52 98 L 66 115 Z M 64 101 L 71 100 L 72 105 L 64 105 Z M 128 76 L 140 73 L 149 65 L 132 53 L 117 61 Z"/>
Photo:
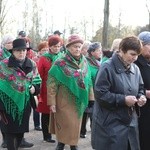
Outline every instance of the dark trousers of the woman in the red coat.
<path fill-rule="evenodd" d="M 42 113 L 41 124 L 42 124 L 43 140 L 51 139 L 52 136 L 49 133 L 49 114 Z"/>

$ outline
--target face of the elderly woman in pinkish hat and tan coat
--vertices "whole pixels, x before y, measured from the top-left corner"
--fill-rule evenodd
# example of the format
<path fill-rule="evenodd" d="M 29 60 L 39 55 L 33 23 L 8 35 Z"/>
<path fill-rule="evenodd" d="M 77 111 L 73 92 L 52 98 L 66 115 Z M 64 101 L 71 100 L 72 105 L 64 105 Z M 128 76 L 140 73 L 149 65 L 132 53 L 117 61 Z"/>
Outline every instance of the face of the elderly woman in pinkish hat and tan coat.
<path fill-rule="evenodd" d="M 68 51 L 71 53 L 71 55 L 75 58 L 79 58 L 81 55 L 81 48 L 82 48 L 82 44 L 81 43 L 75 43 L 75 44 L 71 44 L 68 47 Z"/>

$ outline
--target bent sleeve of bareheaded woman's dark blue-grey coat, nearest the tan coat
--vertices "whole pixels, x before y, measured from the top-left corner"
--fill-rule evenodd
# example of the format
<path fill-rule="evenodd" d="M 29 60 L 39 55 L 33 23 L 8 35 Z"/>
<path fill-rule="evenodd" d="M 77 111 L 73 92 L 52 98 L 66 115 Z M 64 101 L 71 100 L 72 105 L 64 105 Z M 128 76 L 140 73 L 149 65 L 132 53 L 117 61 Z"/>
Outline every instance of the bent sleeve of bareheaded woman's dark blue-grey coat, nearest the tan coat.
<path fill-rule="evenodd" d="M 103 105 L 107 109 L 116 109 L 120 106 L 125 106 L 125 95 L 112 92 L 111 88 L 113 84 L 113 71 L 111 71 L 106 63 L 101 66 L 98 71 L 95 86 L 94 86 L 94 95 L 98 103 Z"/>

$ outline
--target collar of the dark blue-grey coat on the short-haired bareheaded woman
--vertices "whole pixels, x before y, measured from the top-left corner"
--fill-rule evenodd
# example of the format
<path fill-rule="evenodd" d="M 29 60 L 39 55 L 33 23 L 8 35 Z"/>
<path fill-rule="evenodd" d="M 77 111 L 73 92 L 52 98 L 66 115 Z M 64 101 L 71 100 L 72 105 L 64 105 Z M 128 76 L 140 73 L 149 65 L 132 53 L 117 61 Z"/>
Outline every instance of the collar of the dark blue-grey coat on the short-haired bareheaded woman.
<path fill-rule="evenodd" d="M 123 62 L 119 59 L 117 53 L 115 53 L 111 59 L 118 73 L 123 73 L 123 72 L 128 72 L 128 73 L 133 73 L 133 74 L 135 73 L 135 70 L 132 64 L 128 70 L 124 67 Z"/>

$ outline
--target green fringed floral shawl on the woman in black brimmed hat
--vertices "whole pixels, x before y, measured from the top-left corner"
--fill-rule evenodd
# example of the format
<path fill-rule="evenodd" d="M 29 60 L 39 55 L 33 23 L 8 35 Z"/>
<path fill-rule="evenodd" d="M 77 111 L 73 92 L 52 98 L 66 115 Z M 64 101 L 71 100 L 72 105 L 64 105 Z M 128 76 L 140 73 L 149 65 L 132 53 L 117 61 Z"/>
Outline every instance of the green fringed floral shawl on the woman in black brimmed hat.
<path fill-rule="evenodd" d="M 0 101 L 6 113 L 21 124 L 24 109 L 30 99 L 29 86 L 40 84 L 41 78 L 35 64 L 33 71 L 26 75 L 19 68 L 8 67 L 8 61 L 6 58 L 0 62 Z"/>

